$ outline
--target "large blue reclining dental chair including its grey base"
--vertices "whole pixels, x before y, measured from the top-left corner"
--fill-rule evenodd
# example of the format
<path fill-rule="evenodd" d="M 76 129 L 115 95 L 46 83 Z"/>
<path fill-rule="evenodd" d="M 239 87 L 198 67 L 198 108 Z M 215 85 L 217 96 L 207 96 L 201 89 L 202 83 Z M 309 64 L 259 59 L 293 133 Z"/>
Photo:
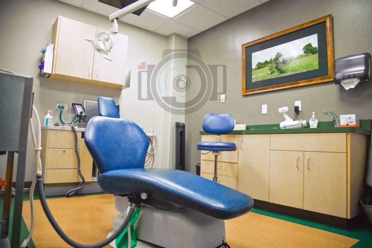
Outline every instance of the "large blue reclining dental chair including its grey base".
<path fill-rule="evenodd" d="M 100 172 L 102 189 L 143 209 L 137 237 L 170 248 L 219 247 L 225 238 L 223 220 L 249 212 L 252 198 L 186 171 L 144 168 L 146 134 L 137 124 L 118 119 L 112 99 L 99 97 L 98 106 L 101 116 L 89 121 L 85 143 Z M 160 238 L 161 233 L 167 238 Z M 178 240 L 172 241 L 170 235 Z M 207 243 L 192 243 L 199 240 Z"/>

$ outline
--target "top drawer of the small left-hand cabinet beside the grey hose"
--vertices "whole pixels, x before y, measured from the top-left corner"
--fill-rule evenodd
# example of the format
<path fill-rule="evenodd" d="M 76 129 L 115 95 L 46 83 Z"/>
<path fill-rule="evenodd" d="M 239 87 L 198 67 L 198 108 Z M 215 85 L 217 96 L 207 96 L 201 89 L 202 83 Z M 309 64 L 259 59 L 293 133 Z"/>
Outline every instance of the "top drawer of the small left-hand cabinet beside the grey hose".
<path fill-rule="evenodd" d="M 81 132 L 78 132 L 78 148 L 80 147 Z M 74 132 L 50 130 L 49 133 L 49 148 L 75 148 Z"/>

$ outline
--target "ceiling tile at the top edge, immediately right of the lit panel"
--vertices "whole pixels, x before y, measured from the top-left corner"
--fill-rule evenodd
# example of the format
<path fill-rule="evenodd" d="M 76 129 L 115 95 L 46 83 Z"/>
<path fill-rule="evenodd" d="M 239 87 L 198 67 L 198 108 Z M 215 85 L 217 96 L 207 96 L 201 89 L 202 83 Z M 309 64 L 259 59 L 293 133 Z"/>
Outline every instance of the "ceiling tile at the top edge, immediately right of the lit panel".
<path fill-rule="evenodd" d="M 203 0 L 200 4 L 222 16 L 231 18 L 262 4 L 262 2 L 259 0 Z"/>

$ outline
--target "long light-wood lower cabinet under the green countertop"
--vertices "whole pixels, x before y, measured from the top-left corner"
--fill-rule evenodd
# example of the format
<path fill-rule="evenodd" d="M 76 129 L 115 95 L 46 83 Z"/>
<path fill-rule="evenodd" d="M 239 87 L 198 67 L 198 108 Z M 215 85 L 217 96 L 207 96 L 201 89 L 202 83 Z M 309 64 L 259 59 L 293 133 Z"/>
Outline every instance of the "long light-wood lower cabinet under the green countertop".
<path fill-rule="evenodd" d="M 234 154 L 218 157 L 221 184 L 253 199 L 351 219 L 361 213 L 368 136 L 358 133 L 224 135 Z M 203 141 L 214 136 L 203 135 Z M 235 152 L 233 152 L 235 153 Z M 202 155 L 201 175 L 214 162 Z"/>

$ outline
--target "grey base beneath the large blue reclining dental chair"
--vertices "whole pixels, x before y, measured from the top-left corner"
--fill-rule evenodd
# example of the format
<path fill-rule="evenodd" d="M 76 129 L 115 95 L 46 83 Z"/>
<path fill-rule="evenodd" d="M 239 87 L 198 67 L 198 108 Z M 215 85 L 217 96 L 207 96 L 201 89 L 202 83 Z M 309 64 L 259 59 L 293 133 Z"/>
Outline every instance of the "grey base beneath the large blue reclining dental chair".
<path fill-rule="evenodd" d="M 121 213 L 114 218 L 114 230 L 123 223 L 127 204 L 125 197 L 115 197 L 116 210 Z M 142 203 L 135 229 L 137 239 L 164 248 L 215 248 L 226 241 L 223 220 L 189 208 L 164 211 Z"/>

